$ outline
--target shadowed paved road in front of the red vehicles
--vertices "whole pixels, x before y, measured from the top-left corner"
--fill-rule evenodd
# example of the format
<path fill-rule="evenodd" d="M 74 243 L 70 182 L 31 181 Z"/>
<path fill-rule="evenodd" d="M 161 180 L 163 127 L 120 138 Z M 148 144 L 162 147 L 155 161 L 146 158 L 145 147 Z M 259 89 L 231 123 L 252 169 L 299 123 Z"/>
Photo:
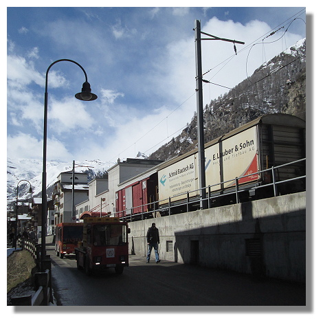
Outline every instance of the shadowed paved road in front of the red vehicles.
<path fill-rule="evenodd" d="M 54 247 L 47 250 L 52 258 L 58 305 L 170 307 L 306 304 L 304 286 L 280 280 L 256 280 L 249 275 L 163 260 L 159 264 L 154 261 L 146 264 L 142 256 L 130 256 L 130 265 L 122 275 L 116 275 L 113 269 L 109 269 L 96 276 L 86 276 L 76 269 L 75 258 L 60 259 L 54 253 Z"/>

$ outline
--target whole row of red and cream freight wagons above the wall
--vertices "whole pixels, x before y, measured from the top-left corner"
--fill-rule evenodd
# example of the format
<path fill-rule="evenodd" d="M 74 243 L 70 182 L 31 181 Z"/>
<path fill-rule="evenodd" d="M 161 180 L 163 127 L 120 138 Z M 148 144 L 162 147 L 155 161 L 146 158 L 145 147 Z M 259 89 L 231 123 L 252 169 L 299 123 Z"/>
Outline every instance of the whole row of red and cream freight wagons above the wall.
<path fill-rule="evenodd" d="M 282 113 L 263 115 L 208 142 L 205 144 L 205 181 L 206 186 L 210 186 L 211 206 L 236 201 L 236 177 L 242 177 L 238 179 L 239 189 L 245 188 L 240 201 L 272 196 L 272 188 L 267 186 L 253 189 L 272 181 L 270 171 L 261 171 L 304 157 L 305 122 Z M 118 216 L 140 214 L 140 219 L 144 219 L 155 216 L 154 210 L 164 215 L 168 214 L 169 205 L 172 213 L 184 212 L 187 200 L 190 210 L 196 210 L 199 208 L 198 163 L 198 152 L 194 149 L 120 184 L 116 192 Z M 279 181 L 304 174 L 304 163 L 275 170 Z M 278 189 L 280 194 L 304 190 L 304 181 L 297 185 L 280 185 Z M 228 194 L 230 192 L 232 194 Z"/>

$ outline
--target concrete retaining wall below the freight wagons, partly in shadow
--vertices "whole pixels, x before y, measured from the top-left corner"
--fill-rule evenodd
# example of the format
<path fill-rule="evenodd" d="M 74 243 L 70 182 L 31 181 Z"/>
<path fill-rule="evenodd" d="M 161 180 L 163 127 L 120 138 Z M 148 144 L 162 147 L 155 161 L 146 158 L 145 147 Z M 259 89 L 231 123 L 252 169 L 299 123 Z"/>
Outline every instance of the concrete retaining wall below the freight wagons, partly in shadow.
<path fill-rule="evenodd" d="M 129 223 L 136 255 L 153 222 L 161 260 L 305 282 L 306 192 Z"/>

